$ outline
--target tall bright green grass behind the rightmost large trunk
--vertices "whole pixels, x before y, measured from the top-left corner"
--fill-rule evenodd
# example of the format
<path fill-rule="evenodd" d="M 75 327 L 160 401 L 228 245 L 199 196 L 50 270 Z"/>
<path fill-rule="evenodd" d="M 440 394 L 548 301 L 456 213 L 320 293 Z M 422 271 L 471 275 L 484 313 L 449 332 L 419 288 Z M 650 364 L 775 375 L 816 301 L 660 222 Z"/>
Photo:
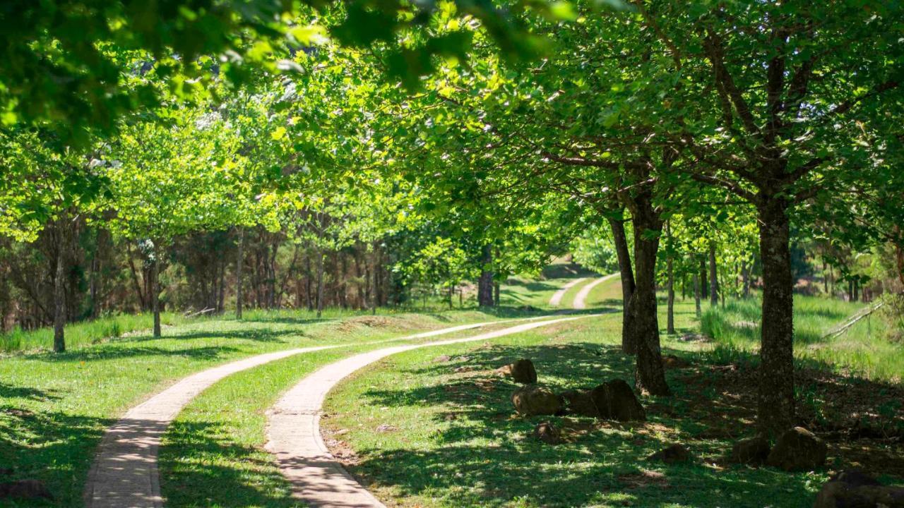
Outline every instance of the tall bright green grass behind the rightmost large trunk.
<path fill-rule="evenodd" d="M 704 306 L 702 332 L 725 347 L 756 351 L 759 346 L 759 298 L 729 300 L 725 309 Z M 900 382 L 904 348 L 890 343 L 879 316 L 853 325 L 838 337 L 823 339 L 833 328 L 861 310 L 860 303 L 821 296 L 795 296 L 795 354 L 801 360 L 829 365 L 869 380 Z"/>

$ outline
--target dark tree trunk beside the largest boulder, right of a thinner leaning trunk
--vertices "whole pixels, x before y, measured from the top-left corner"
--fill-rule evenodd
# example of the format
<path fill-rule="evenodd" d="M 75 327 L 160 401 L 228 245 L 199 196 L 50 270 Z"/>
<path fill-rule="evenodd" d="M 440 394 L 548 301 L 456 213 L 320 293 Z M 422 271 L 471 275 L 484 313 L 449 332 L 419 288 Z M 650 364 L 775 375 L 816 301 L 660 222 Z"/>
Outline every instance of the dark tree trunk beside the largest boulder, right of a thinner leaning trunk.
<path fill-rule="evenodd" d="M 652 395 L 671 395 L 665 383 L 663 358 L 659 344 L 659 318 L 656 315 L 656 252 L 659 237 L 645 239 L 645 230 L 658 231 L 662 221 L 653 210 L 652 196 L 636 197 L 634 225 L 635 289 L 628 312 L 634 316 L 632 325 L 637 348 L 637 381 Z"/>

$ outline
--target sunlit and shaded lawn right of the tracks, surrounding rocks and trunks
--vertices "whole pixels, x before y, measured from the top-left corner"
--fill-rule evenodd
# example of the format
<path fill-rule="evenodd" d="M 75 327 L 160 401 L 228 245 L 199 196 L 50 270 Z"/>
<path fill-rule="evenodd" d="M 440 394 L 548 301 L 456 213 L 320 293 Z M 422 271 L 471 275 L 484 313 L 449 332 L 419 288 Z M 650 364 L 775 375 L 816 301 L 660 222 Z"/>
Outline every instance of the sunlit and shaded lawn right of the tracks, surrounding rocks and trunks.
<path fill-rule="evenodd" d="M 590 303 L 617 298 L 620 289 L 613 282 L 602 285 Z M 697 327 L 692 300 L 679 300 L 676 311 L 679 332 Z M 843 316 L 833 316 L 834 322 Z M 664 335 L 664 353 L 688 364 L 666 372 L 673 398 L 642 398 L 645 423 L 514 414 L 509 399 L 516 385 L 494 369 L 517 358 L 532 358 L 541 383 L 555 390 L 589 388 L 612 378 L 632 381 L 632 359 L 617 347 L 619 329 L 620 315 L 612 314 L 492 345 L 394 355 L 334 390 L 325 408 L 325 440 L 354 475 L 393 506 L 813 504 L 828 470 L 790 474 L 724 459 L 731 444 L 754 428 L 757 360 L 742 349 Z M 452 359 L 435 362 L 439 354 Z M 828 442 L 830 469 L 862 467 L 900 483 L 904 456 L 897 439 L 904 431 L 904 389 L 899 383 L 843 377 L 817 362 L 807 362 L 797 381 L 800 424 Z M 563 429 L 565 443 L 553 447 L 532 437 L 544 420 Z M 380 432 L 381 426 L 391 427 Z M 692 462 L 668 466 L 646 460 L 676 442 L 691 450 Z"/>

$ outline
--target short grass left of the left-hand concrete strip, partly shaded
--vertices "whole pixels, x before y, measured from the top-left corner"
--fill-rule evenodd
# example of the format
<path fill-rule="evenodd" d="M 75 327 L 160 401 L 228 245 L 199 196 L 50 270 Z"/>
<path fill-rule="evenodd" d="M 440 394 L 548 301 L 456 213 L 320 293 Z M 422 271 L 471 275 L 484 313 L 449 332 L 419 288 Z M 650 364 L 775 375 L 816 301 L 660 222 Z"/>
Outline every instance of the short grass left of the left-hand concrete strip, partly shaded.
<path fill-rule="evenodd" d="M 5 480 L 47 484 L 56 506 L 80 506 L 90 460 L 105 428 L 147 394 L 192 372 L 290 347 L 356 343 L 413 330 L 485 321 L 473 311 L 314 320 L 304 313 L 205 319 L 67 353 L 20 353 L 0 360 L 0 465 Z M 13 504 L 15 506 L 15 504 Z M 33 505 L 24 503 L 20 505 Z"/>

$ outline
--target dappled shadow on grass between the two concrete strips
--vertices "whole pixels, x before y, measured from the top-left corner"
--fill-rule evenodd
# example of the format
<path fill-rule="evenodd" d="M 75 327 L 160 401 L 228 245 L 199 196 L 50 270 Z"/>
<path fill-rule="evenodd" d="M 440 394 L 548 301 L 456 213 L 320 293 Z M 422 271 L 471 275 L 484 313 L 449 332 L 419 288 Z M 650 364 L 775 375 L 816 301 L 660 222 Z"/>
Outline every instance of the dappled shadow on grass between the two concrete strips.
<path fill-rule="evenodd" d="M 169 506 L 300 508 L 266 452 L 235 444 L 221 424 L 176 420 L 160 450 L 161 489 Z M 223 466 L 240 464 L 240 467 Z"/>

